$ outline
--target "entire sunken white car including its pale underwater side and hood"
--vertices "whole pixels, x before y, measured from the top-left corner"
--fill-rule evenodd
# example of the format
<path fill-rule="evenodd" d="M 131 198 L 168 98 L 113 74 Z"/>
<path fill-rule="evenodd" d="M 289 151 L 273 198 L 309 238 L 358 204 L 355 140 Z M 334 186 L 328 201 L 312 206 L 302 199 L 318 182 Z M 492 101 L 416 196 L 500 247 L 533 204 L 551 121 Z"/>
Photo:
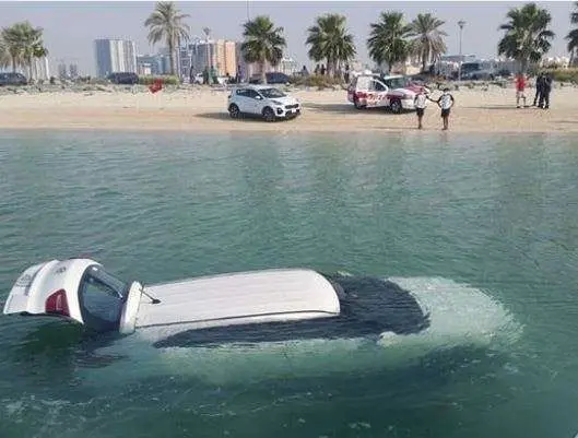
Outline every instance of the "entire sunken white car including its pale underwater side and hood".
<path fill-rule="evenodd" d="M 519 332 L 499 303 L 445 279 L 295 269 L 143 287 L 90 259 L 28 268 L 3 312 L 117 332 L 98 353 L 132 359 L 111 365 L 123 379 L 160 370 L 227 380 L 368 369 L 440 347 L 509 343 Z"/>

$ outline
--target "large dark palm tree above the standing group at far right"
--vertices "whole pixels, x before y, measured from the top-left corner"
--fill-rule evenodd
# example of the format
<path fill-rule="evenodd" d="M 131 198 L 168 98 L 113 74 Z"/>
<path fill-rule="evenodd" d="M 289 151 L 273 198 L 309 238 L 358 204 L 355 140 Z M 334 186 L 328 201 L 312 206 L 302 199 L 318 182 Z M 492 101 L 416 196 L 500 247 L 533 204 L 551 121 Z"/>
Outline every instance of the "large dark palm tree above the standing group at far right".
<path fill-rule="evenodd" d="M 514 58 L 526 73 L 528 64 L 540 62 L 552 46 L 550 40 L 554 38 L 554 32 L 547 28 L 552 16 L 535 3 L 510 9 L 506 16 L 508 23 L 499 26 L 506 33 L 498 43 L 498 55 Z"/>

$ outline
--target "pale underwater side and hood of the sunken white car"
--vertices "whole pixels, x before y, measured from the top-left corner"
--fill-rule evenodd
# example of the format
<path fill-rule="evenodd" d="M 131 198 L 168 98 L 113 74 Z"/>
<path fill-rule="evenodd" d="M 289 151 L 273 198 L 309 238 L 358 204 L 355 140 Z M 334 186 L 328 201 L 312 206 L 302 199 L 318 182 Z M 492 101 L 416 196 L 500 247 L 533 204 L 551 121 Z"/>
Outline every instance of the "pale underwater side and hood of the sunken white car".
<path fill-rule="evenodd" d="M 106 380 L 111 372 L 122 380 L 154 375 L 191 375 L 224 383 L 368 371 L 400 366 L 410 358 L 458 345 L 499 348 L 515 342 L 521 333 L 521 327 L 502 304 L 480 289 L 439 277 L 388 280 L 410 291 L 429 312 L 428 329 L 410 335 L 382 333 L 379 340 L 317 339 L 166 348 L 154 348 L 146 341 L 149 336 L 141 338 L 135 333 L 97 352 L 128 357 L 101 369 L 91 369 L 89 374 L 96 378 L 95 374 L 103 372 Z"/>

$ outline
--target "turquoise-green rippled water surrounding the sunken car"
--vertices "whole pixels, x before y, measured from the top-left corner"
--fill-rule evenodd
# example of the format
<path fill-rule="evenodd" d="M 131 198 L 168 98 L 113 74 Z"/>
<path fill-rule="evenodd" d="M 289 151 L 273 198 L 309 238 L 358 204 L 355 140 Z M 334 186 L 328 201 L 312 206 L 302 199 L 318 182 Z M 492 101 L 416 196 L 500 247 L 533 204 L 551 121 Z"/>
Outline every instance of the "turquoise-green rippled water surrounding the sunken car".
<path fill-rule="evenodd" d="M 120 357 L 73 325 L 1 317 L 2 438 L 578 431 L 575 137 L 2 132 L 0 166 L 0 299 L 33 263 L 90 254 L 145 284 L 310 267 L 460 285 L 515 322 L 499 343 L 359 369 L 353 348 L 267 376 L 274 353 Z M 475 327 L 475 303 L 444 322 Z"/>

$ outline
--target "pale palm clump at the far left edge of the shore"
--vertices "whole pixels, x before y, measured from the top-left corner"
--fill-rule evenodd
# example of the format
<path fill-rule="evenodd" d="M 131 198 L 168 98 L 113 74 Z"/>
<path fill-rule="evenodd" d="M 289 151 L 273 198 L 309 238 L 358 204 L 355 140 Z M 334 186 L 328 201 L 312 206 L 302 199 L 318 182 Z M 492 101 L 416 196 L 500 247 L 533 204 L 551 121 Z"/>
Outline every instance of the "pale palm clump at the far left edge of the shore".
<path fill-rule="evenodd" d="M 45 52 L 42 27 L 33 27 L 30 22 L 15 23 L 2 28 L 2 39 L 9 54 L 12 71 L 27 67 L 28 79 L 33 79 L 32 62 L 35 54 Z"/>

